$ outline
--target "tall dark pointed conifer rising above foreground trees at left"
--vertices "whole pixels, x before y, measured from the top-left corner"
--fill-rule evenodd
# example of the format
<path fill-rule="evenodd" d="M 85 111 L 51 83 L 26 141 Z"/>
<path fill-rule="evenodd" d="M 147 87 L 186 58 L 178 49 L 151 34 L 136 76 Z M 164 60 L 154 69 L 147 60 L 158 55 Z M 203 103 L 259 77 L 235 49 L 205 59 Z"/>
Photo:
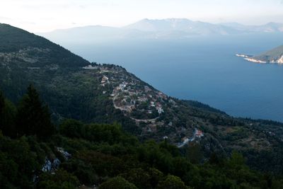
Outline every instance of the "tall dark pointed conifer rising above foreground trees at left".
<path fill-rule="evenodd" d="M 33 85 L 28 86 L 27 94 L 18 105 L 16 127 L 20 136 L 37 135 L 44 139 L 54 133 L 47 105 L 42 105 L 40 96 Z"/>

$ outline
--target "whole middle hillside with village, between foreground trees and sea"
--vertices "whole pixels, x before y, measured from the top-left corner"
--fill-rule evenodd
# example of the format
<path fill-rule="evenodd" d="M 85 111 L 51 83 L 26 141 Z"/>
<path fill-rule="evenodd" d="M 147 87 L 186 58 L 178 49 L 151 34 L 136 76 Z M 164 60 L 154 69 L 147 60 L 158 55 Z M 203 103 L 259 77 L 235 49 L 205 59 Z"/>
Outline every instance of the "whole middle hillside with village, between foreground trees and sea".
<path fill-rule="evenodd" d="M 180 150 L 200 144 L 202 163 L 212 152 L 229 156 L 237 150 L 250 168 L 283 172 L 282 123 L 233 118 L 202 103 L 180 101 L 122 67 L 91 64 L 10 25 L 0 25 L 0 39 L 1 91 L 18 104 L 33 84 L 57 127 L 66 118 L 120 124 L 141 142 L 166 139 Z"/>

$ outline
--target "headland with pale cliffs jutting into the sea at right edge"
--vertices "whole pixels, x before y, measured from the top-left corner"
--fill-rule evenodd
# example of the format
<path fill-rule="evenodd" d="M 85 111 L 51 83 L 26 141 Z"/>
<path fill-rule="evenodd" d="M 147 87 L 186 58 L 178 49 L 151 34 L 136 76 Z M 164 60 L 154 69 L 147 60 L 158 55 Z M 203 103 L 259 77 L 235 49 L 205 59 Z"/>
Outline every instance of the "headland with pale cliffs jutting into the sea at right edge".
<path fill-rule="evenodd" d="M 250 56 L 237 54 L 237 56 L 244 57 L 250 62 L 283 64 L 283 45 L 263 52 L 260 55 Z"/>

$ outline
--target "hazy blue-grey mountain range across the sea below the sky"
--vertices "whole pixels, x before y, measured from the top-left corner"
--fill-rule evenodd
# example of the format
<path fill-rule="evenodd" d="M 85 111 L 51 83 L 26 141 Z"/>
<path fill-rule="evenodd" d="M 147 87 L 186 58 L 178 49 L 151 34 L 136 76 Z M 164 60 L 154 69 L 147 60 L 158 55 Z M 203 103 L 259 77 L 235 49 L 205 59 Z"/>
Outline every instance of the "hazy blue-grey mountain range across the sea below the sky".
<path fill-rule="evenodd" d="M 185 18 L 162 20 L 143 19 L 121 28 L 90 25 L 79 28 L 38 33 L 55 42 L 92 42 L 124 38 L 192 38 L 202 35 L 236 35 L 244 33 L 282 33 L 283 23 L 265 25 L 242 25 L 240 23 L 205 23 Z"/>

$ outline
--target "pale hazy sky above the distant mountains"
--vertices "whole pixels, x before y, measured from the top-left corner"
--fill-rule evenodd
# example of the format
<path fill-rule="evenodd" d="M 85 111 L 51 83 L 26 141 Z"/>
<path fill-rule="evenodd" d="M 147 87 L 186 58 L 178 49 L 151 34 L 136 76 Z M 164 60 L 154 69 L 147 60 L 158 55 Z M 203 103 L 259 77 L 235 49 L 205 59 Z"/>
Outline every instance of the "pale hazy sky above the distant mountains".
<path fill-rule="evenodd" d="M 31 32 L 82 25 L 122 26 L 142 18 L 283 23 L 283 0 L 0 0 L 0 23 Z"/>

